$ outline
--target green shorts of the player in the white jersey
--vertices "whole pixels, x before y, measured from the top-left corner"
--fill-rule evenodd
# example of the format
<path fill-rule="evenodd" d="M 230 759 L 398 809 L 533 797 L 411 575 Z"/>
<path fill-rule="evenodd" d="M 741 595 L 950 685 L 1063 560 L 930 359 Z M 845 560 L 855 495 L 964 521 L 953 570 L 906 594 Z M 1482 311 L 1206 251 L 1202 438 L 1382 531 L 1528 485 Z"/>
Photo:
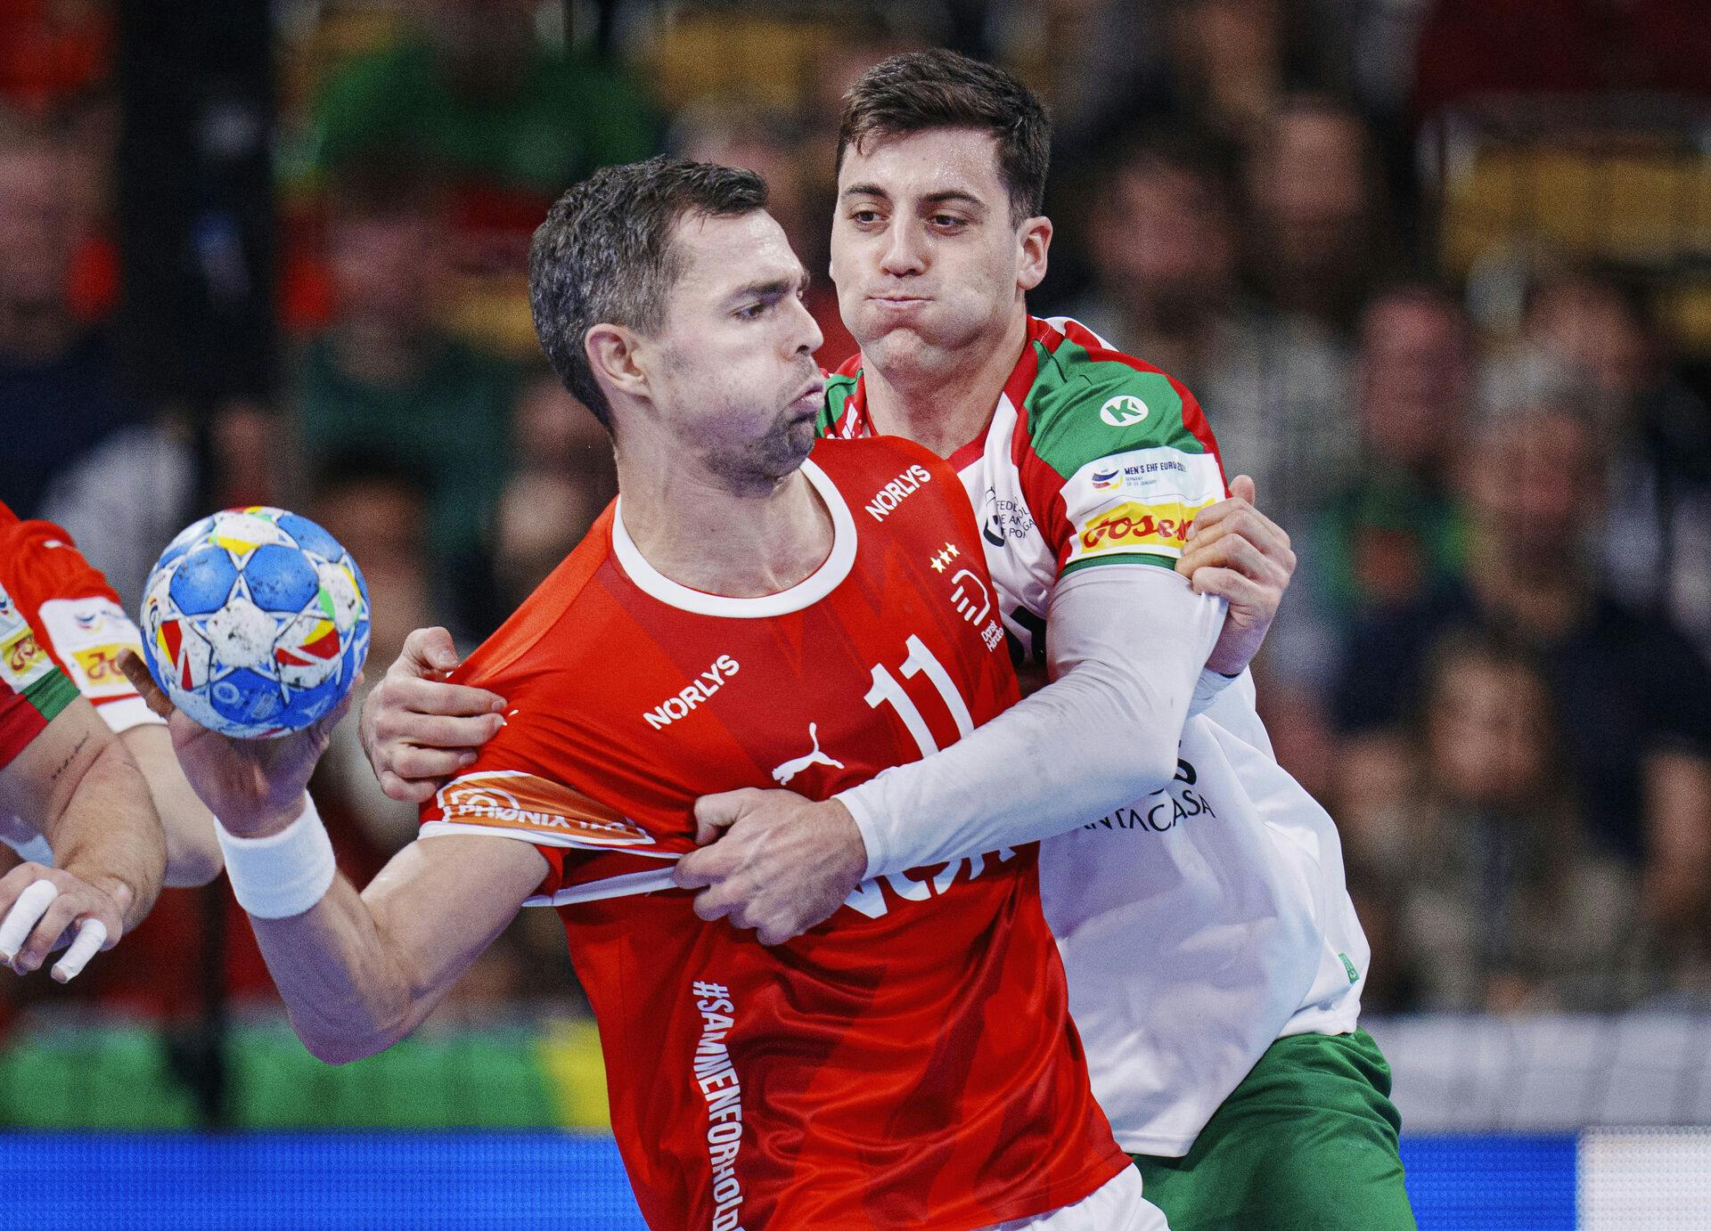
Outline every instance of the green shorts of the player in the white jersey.
<path fill-rule="evenodd" d="M 1182 1157 L 1134 1156 L 1170 1231 L 1415 1231 L 1389 1101 L 1365 1031 L 1266 1048 Z"/>

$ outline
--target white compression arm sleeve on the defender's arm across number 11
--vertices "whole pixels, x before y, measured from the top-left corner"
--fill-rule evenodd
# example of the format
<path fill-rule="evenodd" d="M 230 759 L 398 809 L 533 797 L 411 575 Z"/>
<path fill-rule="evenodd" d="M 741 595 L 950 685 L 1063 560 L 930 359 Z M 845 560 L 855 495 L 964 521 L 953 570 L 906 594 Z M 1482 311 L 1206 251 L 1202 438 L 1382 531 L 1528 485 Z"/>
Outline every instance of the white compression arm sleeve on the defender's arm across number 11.
<path fill-rule="evenodd" d="M 1037 841 L 1170 781 L 1225 604 L 1152 564 L 1100 564 L 1052 592 L 1052 682 L 924 761 L 837 798 L 867 875 Z"/>

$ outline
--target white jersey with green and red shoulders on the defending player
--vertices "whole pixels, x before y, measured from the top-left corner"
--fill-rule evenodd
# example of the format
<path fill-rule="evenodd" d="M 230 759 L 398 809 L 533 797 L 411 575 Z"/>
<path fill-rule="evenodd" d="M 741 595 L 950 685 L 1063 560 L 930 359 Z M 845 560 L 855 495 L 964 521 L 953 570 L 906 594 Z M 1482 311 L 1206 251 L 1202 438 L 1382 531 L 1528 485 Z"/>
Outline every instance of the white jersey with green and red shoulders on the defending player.
<path fill-rule="evenodd" d="M 828 434 L 871 429 L 857 364 L 828 388 Z M 1028 320 L 986 438 L 951 463 L 1037 662 L 1064 573 L 1172 568 L 1225 494 L 1193 397 L 1061 318 Z M 1134 1154 L 1186 1154 L 1278 1038 L 1355 1029 L 1369 959 L 1336 826 L 1273 759 L 1249 677 L 1187 720 L 1177 757 L 1163 792 L 1040 845 L 1093 1093 Z"/>

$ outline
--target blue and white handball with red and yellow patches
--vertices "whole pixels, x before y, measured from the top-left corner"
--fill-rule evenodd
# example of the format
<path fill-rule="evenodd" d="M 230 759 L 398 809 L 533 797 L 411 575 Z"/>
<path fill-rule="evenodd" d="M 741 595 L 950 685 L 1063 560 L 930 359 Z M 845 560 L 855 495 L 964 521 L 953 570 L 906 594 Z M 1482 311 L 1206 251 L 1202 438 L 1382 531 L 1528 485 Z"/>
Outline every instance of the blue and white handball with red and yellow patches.
<path fill-rule="evenodd" d="M 277 508 L 226 509 L 168 544 L 142 593 L 142 657 L 173 704 L 241 739 L 301 730 L 368 655 L 368 585 L 339 540 Z"/>

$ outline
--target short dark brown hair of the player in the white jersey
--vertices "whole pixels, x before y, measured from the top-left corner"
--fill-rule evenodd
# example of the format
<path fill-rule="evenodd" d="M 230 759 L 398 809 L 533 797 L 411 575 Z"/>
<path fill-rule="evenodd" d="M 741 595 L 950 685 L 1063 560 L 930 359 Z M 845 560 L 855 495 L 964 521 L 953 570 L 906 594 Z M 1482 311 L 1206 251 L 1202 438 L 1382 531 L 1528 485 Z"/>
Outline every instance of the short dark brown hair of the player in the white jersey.
<path fill-rule="evenodd" d="M 844 150 L 874 137 L 929 128 L 979 128 L 998 142 L 998 173 L 1009 190 L 1009 221 L 1021 226 L 1045 209 L 1052 121 L 1039 96 L 1016 77 L 956 51 L 903 51 L 864 72 L 844 96 Z"/>

